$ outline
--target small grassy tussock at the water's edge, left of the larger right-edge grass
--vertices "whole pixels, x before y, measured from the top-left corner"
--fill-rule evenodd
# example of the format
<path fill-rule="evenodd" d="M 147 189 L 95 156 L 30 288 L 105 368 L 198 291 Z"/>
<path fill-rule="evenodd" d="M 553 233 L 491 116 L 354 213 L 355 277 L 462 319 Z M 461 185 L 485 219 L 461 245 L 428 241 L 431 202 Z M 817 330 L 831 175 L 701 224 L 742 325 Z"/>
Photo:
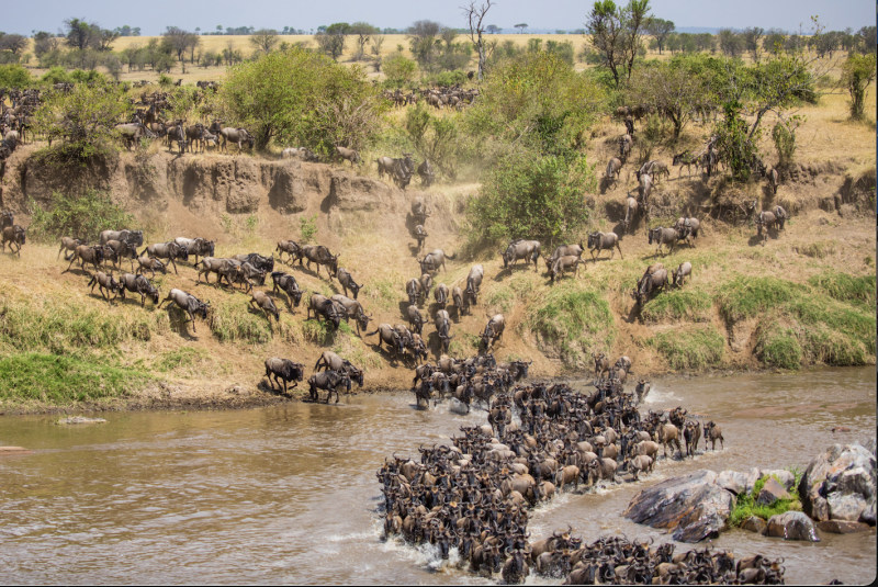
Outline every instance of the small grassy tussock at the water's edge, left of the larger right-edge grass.
<path fill-rule="evenodd" d="M 725 357 L 725 341 L 713 325 L 694 325 L 660 332 L 650 339 L 674 370 L 701 371 L 719 366 Z"/>

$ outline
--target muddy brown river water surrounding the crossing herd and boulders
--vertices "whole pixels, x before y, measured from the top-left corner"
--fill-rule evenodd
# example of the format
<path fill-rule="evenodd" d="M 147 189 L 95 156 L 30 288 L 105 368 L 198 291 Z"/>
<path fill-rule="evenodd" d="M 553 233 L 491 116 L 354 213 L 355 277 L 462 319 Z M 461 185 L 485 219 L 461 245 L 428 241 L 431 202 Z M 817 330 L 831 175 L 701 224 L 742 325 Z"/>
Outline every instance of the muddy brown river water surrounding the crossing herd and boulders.
<path fill-rule="evenodd" d="M 122 413 L 85 426 L 0 418 L 0 445 L 35 450 L 0 459 L 0 582 L 485 583 L 429 548 L 380 540 L 374 472 L 384 456 L 484 421 L 448 404 L 417 410 L 413 398 Z M 534 510 L 532 537 L 570 523 L 586 541 L 618 532 L 667 541 L 621 518 L 638 490 L 701 467 L 804 465 L 833 442 L 865 442 L 875 434 L 876 371 L 668 379 L 655 382 L 645 408 L 678 405 L 720 422 L 725 448 L 660 460 L 638 483 L 561 495 Z M 788 583 L 875 578 L 875 531 L 822 538 L 806 544 L 734 530 L 713 543 L 738 556 L 786 557 Z"/>

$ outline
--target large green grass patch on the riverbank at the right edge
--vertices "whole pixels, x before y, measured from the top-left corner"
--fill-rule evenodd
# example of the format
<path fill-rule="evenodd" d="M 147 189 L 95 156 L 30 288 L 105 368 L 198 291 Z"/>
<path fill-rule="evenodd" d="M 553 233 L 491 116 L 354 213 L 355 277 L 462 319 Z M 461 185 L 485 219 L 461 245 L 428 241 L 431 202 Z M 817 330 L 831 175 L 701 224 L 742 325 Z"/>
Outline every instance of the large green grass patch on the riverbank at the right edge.
<path fill-rule="evenodd" d="M 874 284 L 875 278 L 838 273 L 812 278 L 810 285 L 736 276 L 720 289 L 720 313 L 729 321 L 764 318 L 758 352 L 769 364 L 869 364 L 875 362 Z M 871 302 L 864 302 L 869 296 Z M 778 324 L 787 328 L 779 330 Z"/>

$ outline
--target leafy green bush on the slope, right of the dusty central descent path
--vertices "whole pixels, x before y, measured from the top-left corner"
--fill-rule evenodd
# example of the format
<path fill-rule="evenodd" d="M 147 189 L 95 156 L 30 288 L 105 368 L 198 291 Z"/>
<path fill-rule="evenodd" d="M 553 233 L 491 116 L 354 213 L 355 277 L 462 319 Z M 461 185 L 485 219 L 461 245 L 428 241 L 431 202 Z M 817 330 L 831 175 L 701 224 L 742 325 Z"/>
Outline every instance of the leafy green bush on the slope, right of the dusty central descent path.
<path fill-rule="evenodd" d="M 567 161 L 532 153 L 507 156 L 487 172 L 468 203 L 468 240 L 471 246 L 493 246 L 528 238 L 552 250 L 586 225 L 589 213 L 583 193 L 596 184 L 585 157 Z"/>

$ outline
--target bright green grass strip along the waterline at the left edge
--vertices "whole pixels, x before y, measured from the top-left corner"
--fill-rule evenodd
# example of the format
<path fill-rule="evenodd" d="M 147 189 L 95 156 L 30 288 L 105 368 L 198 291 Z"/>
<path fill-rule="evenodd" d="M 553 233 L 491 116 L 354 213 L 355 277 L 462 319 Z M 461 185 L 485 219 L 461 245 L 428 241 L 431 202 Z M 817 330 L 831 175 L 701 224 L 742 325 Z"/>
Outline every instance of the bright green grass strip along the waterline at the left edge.
<path fill-rule="evenodd" d="M 61 405 L 116 397 L 143 387 L 144 372 L 71 357 L 26 353 L 0 358 L 0 399 Z"/>

